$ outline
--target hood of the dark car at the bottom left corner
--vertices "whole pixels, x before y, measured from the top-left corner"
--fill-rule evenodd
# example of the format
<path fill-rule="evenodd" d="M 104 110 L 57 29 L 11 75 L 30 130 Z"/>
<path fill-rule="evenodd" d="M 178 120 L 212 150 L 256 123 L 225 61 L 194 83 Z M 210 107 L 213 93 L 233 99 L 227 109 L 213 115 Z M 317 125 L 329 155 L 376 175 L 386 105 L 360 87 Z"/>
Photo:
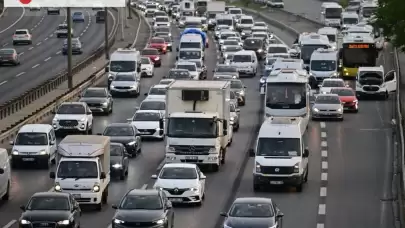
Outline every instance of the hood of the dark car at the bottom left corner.
<path fill-rule="evenodd" d="M 53 210 L 41 210 L 41 211 L 25 211 L 22 213 L 21 218 L 28 221 L 48 221 L 59 222 L 67 220 L 70 217 L 69 211 L 53 211 Z"/>

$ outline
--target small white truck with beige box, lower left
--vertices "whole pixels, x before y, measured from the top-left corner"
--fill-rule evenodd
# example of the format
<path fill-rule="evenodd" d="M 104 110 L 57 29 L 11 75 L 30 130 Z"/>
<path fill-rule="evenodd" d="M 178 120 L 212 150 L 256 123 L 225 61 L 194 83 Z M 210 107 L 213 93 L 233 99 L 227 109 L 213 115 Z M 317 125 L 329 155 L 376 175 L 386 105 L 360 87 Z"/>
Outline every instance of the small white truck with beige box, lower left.
<path fill-rule="evenodd" d="M 110 184 L 110 137 L 68 135 L 58 145 L 54 191 L 69 192 L 80 204 L 101 210 Z"/>

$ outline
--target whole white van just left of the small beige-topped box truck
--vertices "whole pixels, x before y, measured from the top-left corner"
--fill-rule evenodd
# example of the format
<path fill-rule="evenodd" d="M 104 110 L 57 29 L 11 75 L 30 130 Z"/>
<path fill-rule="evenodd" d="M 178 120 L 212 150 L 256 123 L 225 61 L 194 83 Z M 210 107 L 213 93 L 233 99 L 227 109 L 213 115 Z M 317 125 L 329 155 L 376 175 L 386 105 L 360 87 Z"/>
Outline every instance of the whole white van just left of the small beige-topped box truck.
<path fill-rule="evenodd" d="M 50 124 L 27 124 L 20 128 L 11 152 L 12 166 L 35 163 L 49 168 L 56 156 L 56 136 Z"/>

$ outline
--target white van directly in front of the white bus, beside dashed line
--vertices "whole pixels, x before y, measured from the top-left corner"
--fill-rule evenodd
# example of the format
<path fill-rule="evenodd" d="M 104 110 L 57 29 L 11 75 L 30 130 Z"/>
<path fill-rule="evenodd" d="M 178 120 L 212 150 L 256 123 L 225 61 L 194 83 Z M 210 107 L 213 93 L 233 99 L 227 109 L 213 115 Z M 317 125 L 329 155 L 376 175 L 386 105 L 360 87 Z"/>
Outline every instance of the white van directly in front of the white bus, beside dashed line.
<path fill-rule="evenodd" d="M 300 117 L 270 117 L 259 130 L 255 157 L 253 190 L 262 186 L 289 185 L 302 191 L 308 181 L 307 122 Z"/>

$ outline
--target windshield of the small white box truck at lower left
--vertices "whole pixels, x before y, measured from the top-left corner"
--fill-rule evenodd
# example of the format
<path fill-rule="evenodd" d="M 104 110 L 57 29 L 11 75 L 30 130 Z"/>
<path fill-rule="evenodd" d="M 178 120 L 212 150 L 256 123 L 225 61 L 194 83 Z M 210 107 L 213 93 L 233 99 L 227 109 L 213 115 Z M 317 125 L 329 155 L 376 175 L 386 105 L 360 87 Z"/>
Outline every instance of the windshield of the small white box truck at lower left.
<path fill-rule="evenodd" d="M 61 161 L 58 178 L 97 178 L 98 167 L 95 161 Z"/>

